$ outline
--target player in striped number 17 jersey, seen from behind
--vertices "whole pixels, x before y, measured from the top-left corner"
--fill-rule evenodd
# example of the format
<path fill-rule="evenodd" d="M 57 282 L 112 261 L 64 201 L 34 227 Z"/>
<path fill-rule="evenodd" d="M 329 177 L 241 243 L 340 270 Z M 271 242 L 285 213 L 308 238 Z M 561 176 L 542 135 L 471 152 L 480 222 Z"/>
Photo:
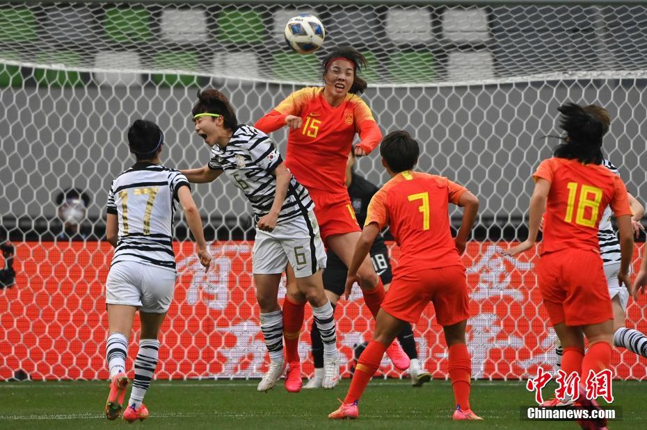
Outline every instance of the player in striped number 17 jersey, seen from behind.
<path fill-rule="evenodd" d="M 115 247 L 106 279 L 106 357 L 111 383 L 105 413 L 109 420 L 119 417 L 122 410 L 128 385 L 128 342 L 138 310 L 139 352 L 134 363 L 133 389 L 123 417 L 129 422 L 148 417 L 143 399 L 157 367 L 157 334 L 175 287 L 175 201 L 184 208 L 200 263 L 207 269 L 211 263 L 189 181 L 177 170 L 160 165 L 163 144 L 164 135 L 157 124 L 137 119 L 128 129 L 128 146 L 137 162 L 112 181 L 108 192 L 106 240 Z"/>

